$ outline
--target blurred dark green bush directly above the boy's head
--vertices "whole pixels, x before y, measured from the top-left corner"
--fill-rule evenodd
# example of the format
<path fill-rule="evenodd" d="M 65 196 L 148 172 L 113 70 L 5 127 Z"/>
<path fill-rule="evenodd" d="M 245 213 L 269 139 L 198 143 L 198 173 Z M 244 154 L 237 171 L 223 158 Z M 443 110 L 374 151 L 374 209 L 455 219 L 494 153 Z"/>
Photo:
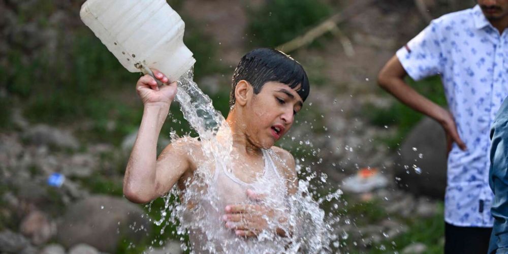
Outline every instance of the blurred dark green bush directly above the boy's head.
<path fill-rule="evenodd" d="M 276 47 L 294 39 L 331 13 L 328 5 L 314 0 L 271 0 L 247 11 L 249 35 L 263 47 Z"/>

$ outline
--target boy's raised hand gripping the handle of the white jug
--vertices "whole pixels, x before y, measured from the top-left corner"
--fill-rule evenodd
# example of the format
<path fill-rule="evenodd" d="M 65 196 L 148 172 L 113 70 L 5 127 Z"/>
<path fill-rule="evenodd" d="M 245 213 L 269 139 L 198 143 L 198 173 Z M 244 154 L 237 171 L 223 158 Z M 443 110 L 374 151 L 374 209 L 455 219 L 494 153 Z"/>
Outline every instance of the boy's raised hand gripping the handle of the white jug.
<path fill-rule="evenodd" d="M 176 82 L 168 85 L 168 78 L 158 70 L 152 69 L 153 75 L 158 80 L 162 81 L 165 85 L 158 87 L 157 82 L 150 75 L 145 75 L 139 78 L 136 84 L 136 91 L 138 92 L 143 105 L 165 103 L 171 104 L 176 95 Z"/>

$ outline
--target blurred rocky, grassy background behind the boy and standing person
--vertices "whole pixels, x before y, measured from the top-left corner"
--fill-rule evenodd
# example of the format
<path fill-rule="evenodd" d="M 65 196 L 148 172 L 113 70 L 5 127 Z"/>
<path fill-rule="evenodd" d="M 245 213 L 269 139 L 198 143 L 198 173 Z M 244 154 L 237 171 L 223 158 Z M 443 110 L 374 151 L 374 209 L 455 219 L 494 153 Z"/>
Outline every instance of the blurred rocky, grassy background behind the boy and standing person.
<path fill-rule="evenodd" d="M 188 252 L 174 225 L 153 223 L 162 199 L 122 198 L 140 74 L 81 22 L 83 2 L 0 0 L 0 252 Z M 297 158 L 315 199 L 343 191 L 338 209 L 322 203 L 340 217 L 335 251 L 442 252 L 444 133 L 378 88 L 376 75 L 432 18 L 474 1 L 168 3 L 185 21 L 195 81 L 225 116 L 231 74 L 249 50 L 279 47 L 304 66 L 311 94 L 278 145 Z M 446 106 L 438 78 L 409 82 Z M 176 104 L 161 148 L 171 132 L 194 135 Z M 61 186 L 48 184 L 53 173 L 65 176 Z"/>

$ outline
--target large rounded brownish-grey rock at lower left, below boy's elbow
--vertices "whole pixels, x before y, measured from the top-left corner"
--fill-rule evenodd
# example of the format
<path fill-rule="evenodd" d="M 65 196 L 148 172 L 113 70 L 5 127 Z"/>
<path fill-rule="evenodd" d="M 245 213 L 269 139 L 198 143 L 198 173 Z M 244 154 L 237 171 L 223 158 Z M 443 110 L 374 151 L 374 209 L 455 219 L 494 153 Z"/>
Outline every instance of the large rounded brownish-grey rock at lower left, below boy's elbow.
<path fill-rule="evenodd" d="M 133 242 L 144 237 L 149 230 L 144 214 L 139 206 L 125 199 L 92 196 L 68 207 L 58 224 L 57 238 L 66 247 L 86 243 L 114 253 L 121 236 Z"/>

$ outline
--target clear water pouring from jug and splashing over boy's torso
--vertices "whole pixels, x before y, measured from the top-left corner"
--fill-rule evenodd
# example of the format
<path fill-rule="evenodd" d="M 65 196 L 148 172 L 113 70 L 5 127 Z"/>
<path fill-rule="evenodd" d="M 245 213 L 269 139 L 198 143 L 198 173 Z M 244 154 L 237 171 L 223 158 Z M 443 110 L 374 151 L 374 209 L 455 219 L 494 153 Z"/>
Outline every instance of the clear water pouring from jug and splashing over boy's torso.
<path fill-rule="evenodd" d="M 199 142 L 200 149 L 189 150 L 189 154 L 201 161 L 192 181 L 185 182 L 185 190 L 180 192 L 174 187 L 163 197 L 164 207 L 161 218 L 153 221 L 161 226 L 161 235 L 167 226 L 177 225 L 176 235 L 188 233 L 190 251 L 196 253 L 274 253 L 274 252 L 331 252 L 331 242 L 339 238 L 334 235 L 333 225 L 338 217 L 328 216 L 320 208 L 320 204 L 338 200 L 340 190 L 324 195 L 319 200 L 312 199 L 315 190 L 310 180 L 326 182 L 326 175 L 310 174 L 306 180 L 299 180 L 296 194 L 287 196 L 285 179 L 277 178 L 275 169 L 270 171 L 267 165 L 283 163 L 271 150 L 263 151 L 265 172 L 255 182 L 245 183 L 231 173 L 230 169 L 221 172 L 219 168 L 227 168 L 234 160 L 232 155 L 232 137 L 229 125 L 212 106 L 211 99 L 204 94 L 193 81 L 193 71 L 189 70 L 178 81 L 176 101 L 180 103 L 184 118 L 198 133 L 195 138 L 178 138 L 172 134 L 173 144 L 178 142 Z M 308 144 L 306 144 L 308 145 Z M 266 153 L 265 153 L 266 152 Z M 199 155 L 198 155 L 199 154 Z M 272 164 L 270 164 L 273 160 Z M 297 165 L 298 172 L 301 167 Z M 305 170 L 310 173 L 310 168 Z M 270 175 L 271 174 L 271 175 Z M 229 178 L 228 178 L 229 177 Z M 233 179 L 233 181 L 231 181 Z M 278 179 L 278 180 L 277 180 Z M 237 181 L 238 180 L 238 181 Z M 250 188 L 257 193 L 268 192 L 262 200 L 249 200 L 245 197 L 245 189 Z M 174 202 L 180 197 L 180 202 Z M 232 203 L 256 205 L 270 209 L 276 214 L 275 219 L 263 217 L 267 222 L 267 230 L 261 231 L 257 237 L 243 238 L 226 228 L 221 218 L 225 214 L 225 206 Z M 335 204 L 335 209 L 338 206 Z M 149 209 L 151 209 L 149 205 Z M 283 219 L 282 219 L 283 218 Z M 277 229 L 287 232 L 278 236 Z M 153 244 L 153 242 L 152 242 Z M 335 247 L 338 242 L 333 243 Z M 182 244 L 184 250 L 188 250 Z"/>

